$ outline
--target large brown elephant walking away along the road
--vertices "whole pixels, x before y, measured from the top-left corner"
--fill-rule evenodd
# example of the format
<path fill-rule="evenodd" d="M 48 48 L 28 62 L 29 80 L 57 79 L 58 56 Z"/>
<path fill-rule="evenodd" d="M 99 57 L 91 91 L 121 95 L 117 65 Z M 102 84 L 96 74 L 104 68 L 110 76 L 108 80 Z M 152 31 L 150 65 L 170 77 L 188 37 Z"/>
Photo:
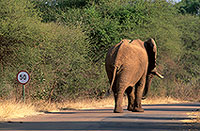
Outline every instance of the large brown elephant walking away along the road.
<path fill-rule="evenodd" d="M 105 60 L 110 89 L 114 93 L 114 113 L 122 113 L 124 93 L 128 97 L 128 111 L 144 112 L 141 101 L 148 94 L 154 75 L 163 78 L 156 69 L 157 47 L 150 38 L 123 39 L 108 50 Z"/>

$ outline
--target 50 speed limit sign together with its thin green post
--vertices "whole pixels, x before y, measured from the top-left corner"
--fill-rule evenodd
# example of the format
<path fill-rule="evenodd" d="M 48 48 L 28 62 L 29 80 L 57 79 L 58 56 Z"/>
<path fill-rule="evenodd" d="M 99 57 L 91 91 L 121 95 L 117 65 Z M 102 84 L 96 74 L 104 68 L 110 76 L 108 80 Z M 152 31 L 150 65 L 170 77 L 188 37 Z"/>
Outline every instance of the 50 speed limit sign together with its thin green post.
<path fill-rule="evenodd" d="M 25 84 L 30 80 L 30 76 L 27 71 L 20 71 L 17 73 L 17 81 L 22 84 L 22 100 L 25 102 Z"/>

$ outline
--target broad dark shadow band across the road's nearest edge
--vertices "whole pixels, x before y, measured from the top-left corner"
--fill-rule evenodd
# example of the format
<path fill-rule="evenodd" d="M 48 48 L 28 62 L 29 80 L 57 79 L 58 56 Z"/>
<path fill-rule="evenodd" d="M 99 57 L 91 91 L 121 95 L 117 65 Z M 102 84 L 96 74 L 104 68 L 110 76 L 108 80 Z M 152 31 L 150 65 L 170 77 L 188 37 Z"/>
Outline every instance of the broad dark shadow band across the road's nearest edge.
<path fill-rule="evenodd" d="M 0 130 L 198 130 L 198 126 L 181 123 L 160 122 L 24 122 L 8 123 Z"/>

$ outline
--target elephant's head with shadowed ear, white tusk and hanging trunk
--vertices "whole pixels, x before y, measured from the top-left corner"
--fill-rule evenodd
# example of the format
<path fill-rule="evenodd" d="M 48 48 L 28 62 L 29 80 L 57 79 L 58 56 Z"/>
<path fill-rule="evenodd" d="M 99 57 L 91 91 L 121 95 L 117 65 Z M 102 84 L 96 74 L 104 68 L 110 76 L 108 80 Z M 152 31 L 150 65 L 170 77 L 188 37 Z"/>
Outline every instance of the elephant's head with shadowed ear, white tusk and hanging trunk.
<path fill-rule="evenodd" d="M 144 93 L 143 93 L 143 99 L 145 99 L 145 97 L 149 91 L 149 88 L 151 86 L 151 80 L 152 80 L 153 76 L 156 75 L 159 78 L 164 78 L 162 75 L 160 75 L 157 72 L 157 69 L 156 69 L 157 46 L 156 46 L 155 41 L 152 38 L 150 38 L 149 40 L 144 42 L 144 46 L 145 46 L 147 54 L 148 54 L 149 65 L 148 65 L 145 89 L 144 89 Z"/>

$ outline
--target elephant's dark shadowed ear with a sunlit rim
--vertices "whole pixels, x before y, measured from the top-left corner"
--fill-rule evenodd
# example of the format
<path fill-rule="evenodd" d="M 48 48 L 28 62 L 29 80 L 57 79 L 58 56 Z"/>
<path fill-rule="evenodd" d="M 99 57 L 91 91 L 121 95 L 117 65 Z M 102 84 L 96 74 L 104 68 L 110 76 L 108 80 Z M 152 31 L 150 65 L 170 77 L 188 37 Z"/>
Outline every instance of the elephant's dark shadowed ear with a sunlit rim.
<path fill-rule="evenodd" d="M 146 48 L 148 58 L 149 58 L 148 71 L 151 72 L 156 67 L 157 46 L 156 46 L 155 41 L 152 38 L 144 42 L 144 46 Z"/>

